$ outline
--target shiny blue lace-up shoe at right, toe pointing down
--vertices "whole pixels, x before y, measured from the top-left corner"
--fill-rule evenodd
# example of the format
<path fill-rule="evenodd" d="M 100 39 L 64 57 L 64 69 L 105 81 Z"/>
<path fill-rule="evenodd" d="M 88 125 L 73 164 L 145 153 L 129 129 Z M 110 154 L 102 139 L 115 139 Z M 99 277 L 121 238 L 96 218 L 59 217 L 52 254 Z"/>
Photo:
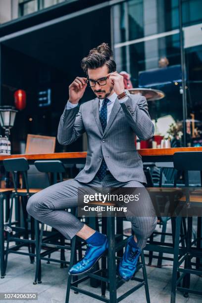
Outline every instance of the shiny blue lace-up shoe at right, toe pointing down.
<path fill-rule="evenodd" d="M 130 240 L 133 236 L 128 238 L 126 247 L 125 247 L 125 252 L 123 254 L 123 257 L 119 263 L 119 275 L 124 281 L 129 281 L 136 269 L 137 269 L 137 262 L 138 262 L 138 257 L 141 253 L 141 249 L 139 248 L 134 248 L 130 244 Z"/>

